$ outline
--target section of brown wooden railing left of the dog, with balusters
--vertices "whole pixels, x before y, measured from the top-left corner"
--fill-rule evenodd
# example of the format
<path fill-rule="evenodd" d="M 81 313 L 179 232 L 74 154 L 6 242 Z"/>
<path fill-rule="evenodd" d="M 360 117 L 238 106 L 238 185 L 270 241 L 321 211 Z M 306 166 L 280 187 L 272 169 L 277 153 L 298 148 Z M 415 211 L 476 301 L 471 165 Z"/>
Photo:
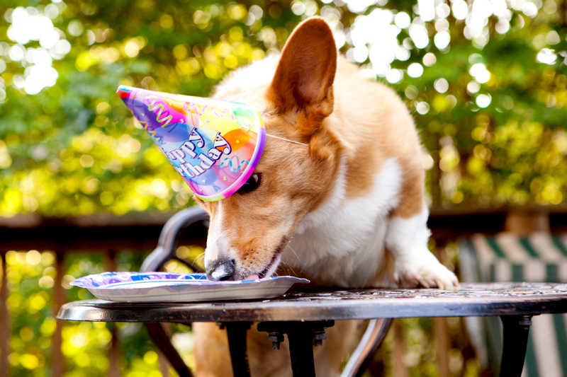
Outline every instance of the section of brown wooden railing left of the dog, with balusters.
<path fill-rule="evenodd" d="M 121 250 L 134 253 L 150 253 L 157 245 L 159 233 L 165 221 L 172 214 L 128 214 L 111 216 L 95 214 L 77 218 L 45 218 L 34 215 L 21 215 L 12 218 L 0 218 L 0 371 L 8 377 L 10 365 L 11 318 L 7 306 L 9 296 L 6 284 L 6 253 L 9 250 L 50 250 L 55 253 L 57 276 L 52 287 L 54 316 L 65 302 L 62 277 L 65 274 L 65 259 L 72 253 L 98 253 L 105 257 L 108 271 L 116 270 L 116 255 Z M 206 229 L 193 226 L 181 241 L 186 245 L 204 245 Z M 57 320 L 55 334 L 52 337 L 52 376 L 64 374 L 64 357 L 61 352 L 61 330 L 64 321 Z M 110 363 L 109 377 L 120 374 L 120 347 L 116 340 L 116 327 L 112 327 L 112 343 L 108 349 Z M 8 336 L 6 336 L 8 335 Z M 4 373 L 6 372 L 6 373 Z"/>

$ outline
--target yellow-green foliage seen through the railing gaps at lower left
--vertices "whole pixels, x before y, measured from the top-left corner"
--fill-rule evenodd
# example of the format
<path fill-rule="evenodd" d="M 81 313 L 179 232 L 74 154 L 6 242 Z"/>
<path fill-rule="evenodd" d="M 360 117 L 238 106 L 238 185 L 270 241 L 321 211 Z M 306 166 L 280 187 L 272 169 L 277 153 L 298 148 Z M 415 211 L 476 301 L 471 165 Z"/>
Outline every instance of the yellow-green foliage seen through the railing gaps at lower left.
<path fill-rule="evenodd" d="M 140 269 L 144 255 L 119 253 L 119 271 Z M 27 253 L 10 251 L 6 255 L 6 279 L 9 284 L 9 313 L 12 336 L 9 363 L 13 376 L 50 376 L 53 317 L 53 294 L 57 271 L 55 255 L 50 252 Z M 96 274 L 108 269 L 101 255 L 71 255 L 62 277 L 67 301 L 86 300 L 93 296 L 86 289 L 69 286 L 76 277 Z M 186 330 L 186 329 L 184 329 Z M 109 368 L 108 349 L 118 336 L 124 376 L 159 377 L 155 344 L 141 323 L 64 323 L 62 354 L 68 377 L 106 376 Z"/>

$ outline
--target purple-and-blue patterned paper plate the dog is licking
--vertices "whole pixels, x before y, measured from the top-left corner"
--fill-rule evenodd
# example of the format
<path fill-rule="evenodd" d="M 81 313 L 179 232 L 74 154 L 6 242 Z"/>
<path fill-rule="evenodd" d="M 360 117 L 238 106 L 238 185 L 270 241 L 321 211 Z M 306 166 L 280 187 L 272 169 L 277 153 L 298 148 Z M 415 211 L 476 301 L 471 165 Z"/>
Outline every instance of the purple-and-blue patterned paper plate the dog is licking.
<path fill-rule="evenodd" d="M 104 272 L 73 280 L 72 286 L 91 291 L 96 298 L 118 302 L 195 302 L 248 300 L 281 296 L 298 277 L 210 282 L 205 274 L 169 272 Z"/>

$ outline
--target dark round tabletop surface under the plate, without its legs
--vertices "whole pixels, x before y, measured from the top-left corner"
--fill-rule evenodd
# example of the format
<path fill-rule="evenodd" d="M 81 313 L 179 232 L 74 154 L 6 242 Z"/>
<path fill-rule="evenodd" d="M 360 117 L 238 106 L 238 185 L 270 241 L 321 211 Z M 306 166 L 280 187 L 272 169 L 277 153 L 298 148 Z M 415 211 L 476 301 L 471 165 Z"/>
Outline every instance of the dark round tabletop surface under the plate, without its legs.
<path fill-rule="evenodd" d="M 99 322 L 310 321 L 537 315 L 567 312 L 567 284 L 461 284 L 440 289 L 290 291 L 262 301 L 200 303 L 66 303 L 57 318 Z"/>

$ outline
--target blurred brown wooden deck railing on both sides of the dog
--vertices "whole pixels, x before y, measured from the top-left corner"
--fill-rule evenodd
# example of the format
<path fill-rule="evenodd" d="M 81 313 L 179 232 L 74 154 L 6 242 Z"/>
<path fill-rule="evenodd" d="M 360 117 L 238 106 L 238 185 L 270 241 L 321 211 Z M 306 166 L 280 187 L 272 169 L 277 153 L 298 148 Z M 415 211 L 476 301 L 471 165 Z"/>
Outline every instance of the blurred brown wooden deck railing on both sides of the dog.
<path fill-rule="evenodd" d="M 71 253 L 103 253 L 109 271 L 116 270 L 116 255 L 120 250 L 150 253 L 157 245 L 157 239 L 165 221 L 172 214 L 127 214 L 111 216 L 95 214 L 77 218 L 45 218 L 35 215 L 21 215 L 0 218 L 0 255 L 2 277 L 0 286 L 0 371 L 9 371 L 11 318 L 6 304 L 9 291 L 6 284 L 6 253 L 9 250 L 50 250 L 55 253 L 57 277 L 52 288 L 54 297 L 53 313 L 65 301 L 62 277 L 65 272 L 65 258 Z M 447 242 L 471 236 L 473 233 L 498 233 L 514 231 L 567 231 L 567 206 L 502 207 L 498 209 L 432 209 L 429 221 L 433 238 L 439 248 Z M 181 239 L 184 245 L 204 245 L 206 229 L 194 226 Z M 439 347 L 439 375 L 449 376 L 447 367 L 447 321 L 435 320 L 435 332 Z M 52 376 L 64 374 L 64 357 L 61 352 L 63 321 L 57 320 L 52 337 Z M 403 331 L 394 325 L 394 375 L 408 376 L 403 365 Z M 120 347 L 117 343 L 116 327 L 113 342 L 108 350 L 110 363 L 108 376 L 118 377 L 120 373 Z M 162 366 L 164 364 L 162 363 Z M 162 369 L 164 371 L 164 369 Z M 8 377 L 7 373 L 3 376 Z M 164 376 L 167 374 L 164 373 Z"/>

